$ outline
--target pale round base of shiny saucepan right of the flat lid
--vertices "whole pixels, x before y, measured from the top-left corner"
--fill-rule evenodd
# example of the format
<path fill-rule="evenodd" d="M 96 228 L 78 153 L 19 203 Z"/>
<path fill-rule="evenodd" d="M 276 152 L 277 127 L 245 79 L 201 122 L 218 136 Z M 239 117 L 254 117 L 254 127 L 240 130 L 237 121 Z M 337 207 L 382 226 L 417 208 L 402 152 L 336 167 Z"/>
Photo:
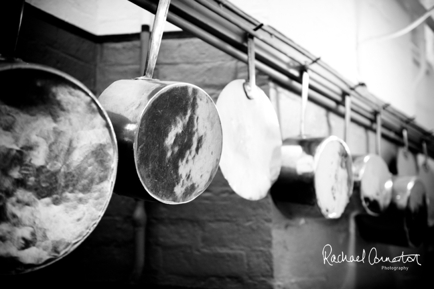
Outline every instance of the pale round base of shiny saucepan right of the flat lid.
<path fill-rule="evenodd" d="M 353 191 L 352 159 L 347 144 L 336 136 L 325 138 L 315 153 L 315 192 L 322 214 L 339 218 Z"/>

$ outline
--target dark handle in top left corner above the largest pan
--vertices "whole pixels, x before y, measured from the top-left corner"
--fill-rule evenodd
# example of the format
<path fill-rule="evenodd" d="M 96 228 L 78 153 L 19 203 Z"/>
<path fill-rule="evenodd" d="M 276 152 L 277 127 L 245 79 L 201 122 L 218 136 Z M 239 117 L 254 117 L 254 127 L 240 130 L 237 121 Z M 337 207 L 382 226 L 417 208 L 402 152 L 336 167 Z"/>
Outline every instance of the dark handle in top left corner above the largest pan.
<path fill-rule="evenodd" d="M 2 2 L 0 13 L 0 54 L 5 58 L 13 58 L 18 33 L 21 27 L 22 10 L 25 0 L 8 0 Z"/>

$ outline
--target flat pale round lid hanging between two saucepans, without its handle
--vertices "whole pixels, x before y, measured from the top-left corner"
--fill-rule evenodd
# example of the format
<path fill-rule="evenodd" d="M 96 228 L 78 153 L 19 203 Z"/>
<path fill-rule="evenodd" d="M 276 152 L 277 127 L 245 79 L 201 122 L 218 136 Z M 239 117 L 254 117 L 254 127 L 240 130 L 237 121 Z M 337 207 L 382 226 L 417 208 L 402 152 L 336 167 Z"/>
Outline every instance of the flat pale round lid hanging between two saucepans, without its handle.
<path fill-rule="evenodd" d="M 248 99 L 244 82 L 231 81 L 217 100 L 224 139 L 220 168 L 236 194 L 260 200 L 279 176 L 282 137 L 267 95 L 256 86 Z"/>

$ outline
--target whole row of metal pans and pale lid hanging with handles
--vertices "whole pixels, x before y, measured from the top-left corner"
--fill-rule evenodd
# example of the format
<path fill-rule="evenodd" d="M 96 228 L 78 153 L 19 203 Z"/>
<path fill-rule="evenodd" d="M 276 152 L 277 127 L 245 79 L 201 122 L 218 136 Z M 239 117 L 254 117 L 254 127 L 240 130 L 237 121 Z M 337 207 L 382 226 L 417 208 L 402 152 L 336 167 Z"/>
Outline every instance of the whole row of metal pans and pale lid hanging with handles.
<path fill-rule="evenodd" d="M 23 1 L 10 3 L 21 17 Z M 359 209 L 379 215 L 394 207 L 408 243 L 420 244 L 427 197 L 419 179 L 392 177 L 378 155 L 353 162 L 335 136 L 305 135 L 307 67 L 301 134 L 283 142 L 275 110 L 255 84 L 252 37 L 248 81 L 229 83 L 216 105 L 195 85 L 153 79 L 169 4 L 158 5 L 144 76 L 114 82 L 98 100 L 61 71 L 13 59 L 18 32 L 10 32 L 0 81 L 17 96 L 0 98 L 0 273 L 33 271 L 73 251 L 97 226 L 113 189 L 182 204 L 207 188 L 219 165 L 245 199 L 266 197 L 274 184 L 277 204 L 317 205 L 328 219 L 344 213 L 355 182 Z M 346 119 L 348 127 L 349 113 Z"/>

